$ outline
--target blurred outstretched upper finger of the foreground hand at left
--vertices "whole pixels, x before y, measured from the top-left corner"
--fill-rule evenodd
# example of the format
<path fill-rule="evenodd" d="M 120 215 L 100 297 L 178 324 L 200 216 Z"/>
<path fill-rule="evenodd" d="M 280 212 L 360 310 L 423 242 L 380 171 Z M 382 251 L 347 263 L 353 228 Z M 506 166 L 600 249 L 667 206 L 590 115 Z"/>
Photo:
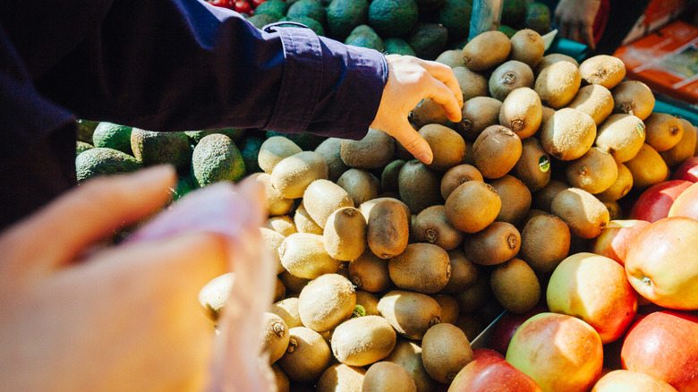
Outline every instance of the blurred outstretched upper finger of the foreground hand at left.
<path fill-rule="evenodd" d="M 72 261 L 115 229 L 160 209 L 174 181 L 171 166 L 89 180 L 7 232 L 0 253 L 12 260 L 16 273 Z"/>

